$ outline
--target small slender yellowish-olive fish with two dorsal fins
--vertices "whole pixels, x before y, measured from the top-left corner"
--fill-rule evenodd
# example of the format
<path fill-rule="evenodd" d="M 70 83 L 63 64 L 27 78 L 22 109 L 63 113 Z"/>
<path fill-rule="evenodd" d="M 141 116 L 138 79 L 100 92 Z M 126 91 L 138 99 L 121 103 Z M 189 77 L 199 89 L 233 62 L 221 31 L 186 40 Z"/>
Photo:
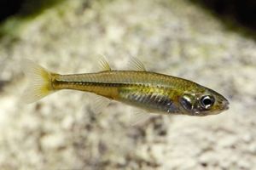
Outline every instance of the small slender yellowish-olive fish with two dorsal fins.
<path fill-rule="evenodd" d="M 23 96 L 26 103 L 72 89 L 102 96 L 100 101 L 116 100 L 166 115 L 208 116 L 229 109 L 228 99 L 216 91 L 181 77 L 147 71 L 137 58 L 131 59 L 131 70 L 112 70 L 106 59 L 100 59 L 101 71 L 69 75 L 48 71 L 30 59 L 21 63 L 30 79 Z"/>

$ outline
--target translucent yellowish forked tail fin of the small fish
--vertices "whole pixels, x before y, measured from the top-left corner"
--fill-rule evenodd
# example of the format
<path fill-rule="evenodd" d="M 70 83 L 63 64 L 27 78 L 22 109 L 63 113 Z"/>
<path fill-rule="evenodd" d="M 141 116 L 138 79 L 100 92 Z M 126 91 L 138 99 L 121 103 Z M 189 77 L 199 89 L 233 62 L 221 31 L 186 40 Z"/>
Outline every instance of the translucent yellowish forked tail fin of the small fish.
<path fill-rule="evenodd" d="M 54 92 L 51 85 L 52 74 L 49 71 L 30 59 L 23 59 L 21 65 L 26 77 L 30 80 L 22 96 L 23 102 L 32 103 Z"/>

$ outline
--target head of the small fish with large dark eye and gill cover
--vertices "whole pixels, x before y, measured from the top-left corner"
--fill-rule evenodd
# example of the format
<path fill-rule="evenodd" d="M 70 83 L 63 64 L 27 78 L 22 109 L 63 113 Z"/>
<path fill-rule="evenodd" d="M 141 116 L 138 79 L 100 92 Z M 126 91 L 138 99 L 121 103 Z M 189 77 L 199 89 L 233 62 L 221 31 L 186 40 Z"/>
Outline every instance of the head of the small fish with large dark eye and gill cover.
<path fill-rule="evenodd" d="M 189 116 L 216 115 L 229 109 L 229 101 L 209 88 L 185 92 L 179 99 L 181 111 Z"/>

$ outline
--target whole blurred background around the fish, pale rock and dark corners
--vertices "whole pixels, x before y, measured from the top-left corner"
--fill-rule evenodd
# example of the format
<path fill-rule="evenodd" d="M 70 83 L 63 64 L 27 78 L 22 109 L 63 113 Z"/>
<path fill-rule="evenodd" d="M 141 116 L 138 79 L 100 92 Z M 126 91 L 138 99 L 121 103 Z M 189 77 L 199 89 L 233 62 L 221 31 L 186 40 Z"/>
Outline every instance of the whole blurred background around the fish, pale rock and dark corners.
<path fill-rule="evenodd" d="M 10 2 L 0 13 L 0 169 L 256 169 L 253 1 Z M 131 106 L 113 102 L 96 115 L 83 92 L 22 103 L 22 59 L 71 74 L 96 71 L 100 54 L 115 69 L 133 56 L 148 71 L 198 82 L 230 109 L 132 127 Z"/>

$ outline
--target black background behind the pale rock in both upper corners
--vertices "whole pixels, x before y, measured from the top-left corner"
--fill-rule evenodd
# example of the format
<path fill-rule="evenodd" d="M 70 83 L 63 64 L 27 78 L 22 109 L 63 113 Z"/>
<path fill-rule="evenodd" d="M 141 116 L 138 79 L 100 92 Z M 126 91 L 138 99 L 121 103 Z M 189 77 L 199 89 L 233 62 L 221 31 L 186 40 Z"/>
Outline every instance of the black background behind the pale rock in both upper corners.
<path fill-rule="evenodd" d="M 256 1 L 255 0 L 189 0 L 202 8 L 207 8 L 224 22 L 234 22 L 238 26 L 256 31 Z M 51 5 L 57 0 L 1 0 L 0 22 L 14 14 L 34 14 L 42 6 Z"/>

